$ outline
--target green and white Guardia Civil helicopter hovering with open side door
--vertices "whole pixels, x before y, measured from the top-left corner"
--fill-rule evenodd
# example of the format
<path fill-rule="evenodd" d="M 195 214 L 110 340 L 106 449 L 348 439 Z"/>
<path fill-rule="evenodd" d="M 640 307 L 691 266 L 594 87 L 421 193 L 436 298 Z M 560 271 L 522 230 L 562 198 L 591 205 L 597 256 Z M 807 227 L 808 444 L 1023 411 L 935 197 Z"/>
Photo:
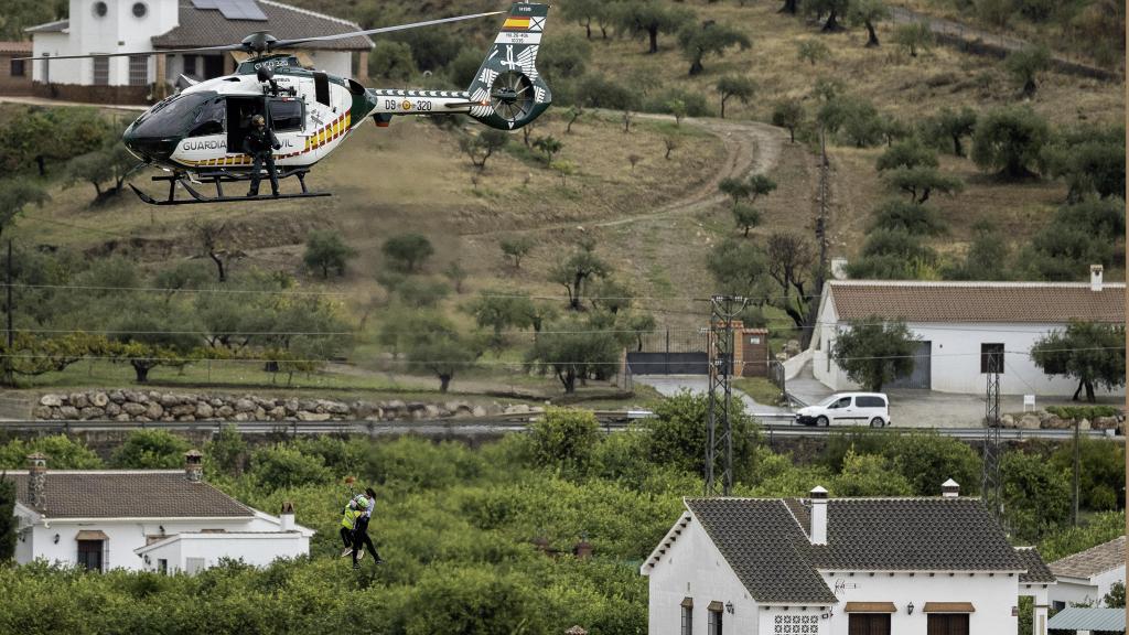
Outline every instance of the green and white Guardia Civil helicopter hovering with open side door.
<path fill-rule="evenodd" d="M 343 40 L 506 15 L 501 29 L 466 90 L 408 90 L 366 88 L 345 77 L 304 68 L 294 53 L 283 49 L 309 42 Z M 142 163 L 166 174 L 154 176 L 167 182 L 168 192 L 155 199 L 132 183 L 130 188 L 149 205 L 191 205 L 327 197 L 310 191 L 306 175 L 320 160 L 333 154 L 368 118 L 387 127 L 397 115 L 466 114 L 488 127 L 517 130 L 540 116 L 552 102 L 549 86 L 535 66 L 548 5 L 515 2 L 509 11 L 492 11 L 440 18 L 406 25 L 351 33 L 279 40 L 256 32 L 239 44 L 201 49 L 178 49 L 159 53 L 244 51 L 250 56 L 234 75 L 204 81 L 182 76 L 190 86 L 158 102 L 133 121 L 122 134 L 125 147 Z M 85 59 L 121 56 L 67 55 Z M 155 53 L 150 53 L 155 54 Z M 274 154 L 279 181 L 295 177 L 300 192 L 273 195 L 229 195 L 224 185 L 252 177 L 252 157 L 243 153 L 243 140 L 252 118 L 262 115 L 273 130 L 280 148 Z M 215 195 L 200 189 L 209 184 Z M 177 198 L 177 186 L 189 198 Z"/>

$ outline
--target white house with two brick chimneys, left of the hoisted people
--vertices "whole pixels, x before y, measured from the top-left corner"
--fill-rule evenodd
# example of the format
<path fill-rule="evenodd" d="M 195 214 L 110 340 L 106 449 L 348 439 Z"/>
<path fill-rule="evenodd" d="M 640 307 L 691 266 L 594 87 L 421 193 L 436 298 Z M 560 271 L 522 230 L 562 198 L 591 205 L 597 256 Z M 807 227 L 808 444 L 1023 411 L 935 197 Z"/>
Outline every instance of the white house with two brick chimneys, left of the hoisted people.
<path fill-rule="evenodd" d="M 184 470 L 49 470 L 40 454 L 16 484 L 16 562 L 96 571 L 195 573 L 221 558 L 269 565 L 309 553 L 314 531 L 239 503 L 202 479 L 200 453 Z"/>

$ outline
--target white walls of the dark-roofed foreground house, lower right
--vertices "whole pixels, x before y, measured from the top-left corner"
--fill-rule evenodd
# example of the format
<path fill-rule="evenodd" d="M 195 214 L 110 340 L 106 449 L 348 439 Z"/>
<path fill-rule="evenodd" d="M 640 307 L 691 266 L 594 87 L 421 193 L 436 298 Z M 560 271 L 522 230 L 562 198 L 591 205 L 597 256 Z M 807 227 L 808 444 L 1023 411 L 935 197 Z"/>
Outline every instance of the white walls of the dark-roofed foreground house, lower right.
<path fill-rule="evenodd" d="M 814 493 L 814 490 L 813 490 Z M 824 493 L 825 494 L 825 493 Z M 781 502 L 782 504 L 782 502 Z M 824 506 L 826 503 L 824 503 Z M 817 531 L 826 524 L 828 514 L 817 514 L 819 504 L 811 504 L 811 529 L 807 540 L 820 542 L 825 531 Z M 833 513 L 833 510 L 825 510 Z M 720 517 L 720 516 L 719 516 Z M 734 531 L 737 517 L 753 522 L 763 531 L 771 527 L 749 520 L 749 516 L 728 515 L 725 531 Z M 768 516 L 765 516 L 768 519 Z M 782 559 L 794 559 L 794 566 L 813 566 L 804 557 L 788 556 L 803 549 L 790 543 L 795 537 L 785 532 L 774 539 L 771 536 L 750 534 L 750 546 L 756 554 L 779 549 Z M 727 549 L 737 553 L 742 547 L 730 534 L 725 539 Z M 773 543 L 773 540 L 779 540 Z M 882 540 L 882 537 L 875 537 Z M 901 540 L 895 540 L 901 543 Z M 968 545 L 975 549 L 975 545 Z M 750 551 L 750 554 L 754 553 Z M 758 556 L 759 557 L 759 556 Z M 864 556 L 865 557 L 865 556 Z M 750 567 L 753 560 L 743 560 Z M 771 560 L 764 560 L 771 562 Z M 767 565 L 767 566 L 779 566 Z M 968 616 L 971 635 L 1014 634 L 1018 627 L 1018 599 L 1032 597 L 1039 606 L 1032 635 L 1047 635 L 1047 583 L 1021 583 L 1023 568 L 1010 571 L 830 571 L 815 566 L 812 569 L 822 579 L 828 598 L 823 603 L 764 602 L 751 597 L 749 589 L 737 576 L 730 563 L 710 538 L 695 511 L 688 504 L 686 511 L 667 532 L 659 546 L 647 558 L 640 573 L 648 577 L 648 633 L 649 635 L 709 634 L 711 608 L 720 609 L 723 632 L 742 635 L 849 635 L 852 616 L 866 618 L 866 614 L 882 614 L 890 618 L 890 630 L 898 635 L 928 635 L 930 612 L 960 612 Z M 787 597 L 784 588 L 773 589 L 774 576 L 746 571 L 761 579 L 767 593 Z M 784 582 L 780 584 L 793 584 Z M 808 597 L 813 593 L 808 586 Z M 689 609 L 689 611 L 688 611 Z M 864 615 L 858 615 L 864 614 Z M 690 628 L 684 619 L 690 617 Z M 856 624 L 856 626 L 858 626 Z"/>

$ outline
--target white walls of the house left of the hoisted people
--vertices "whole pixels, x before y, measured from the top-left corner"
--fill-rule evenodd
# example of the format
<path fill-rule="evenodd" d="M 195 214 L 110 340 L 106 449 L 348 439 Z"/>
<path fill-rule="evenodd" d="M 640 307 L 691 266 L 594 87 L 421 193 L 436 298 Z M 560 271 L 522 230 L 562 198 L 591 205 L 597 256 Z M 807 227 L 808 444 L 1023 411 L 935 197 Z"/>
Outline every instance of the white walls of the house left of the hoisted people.
<path fill-rule="evenodd" d="M 207 566 L 215 565 L 225 556 L 266 565 L 274 557 L 308 554 L 309 538 L 314 534 L 313 530 L 294 524 L 292 519 L 262 512 L 255 512 L 251 517 L 50 519 L 17 503 L 16 515 L 20 528 L 16 542 L 17 563 L 43 559 L 62 566 L 77 566 L 79 532 L 102 532 L 105 534 L 102 550 L 104 569 L 155 571 L 156 564 L 148 566 L 145 554 L 138 550 L 156 545 L 175 546 L 181 557 L 176 560 L 177 567 L 182 569 L 185 565 L 180 563 L 187 557 L 204 557 Z M 227 534 L 234 538 L 228 539 Z M 184 539 L 177 539 L 181 536 Z M 248 536 L 256 539 L 248 540 Z M 182 547 L 182 543 L 186 546 Z M 270 549 L 278 549 L 278 553 L 270 557 Z"/>

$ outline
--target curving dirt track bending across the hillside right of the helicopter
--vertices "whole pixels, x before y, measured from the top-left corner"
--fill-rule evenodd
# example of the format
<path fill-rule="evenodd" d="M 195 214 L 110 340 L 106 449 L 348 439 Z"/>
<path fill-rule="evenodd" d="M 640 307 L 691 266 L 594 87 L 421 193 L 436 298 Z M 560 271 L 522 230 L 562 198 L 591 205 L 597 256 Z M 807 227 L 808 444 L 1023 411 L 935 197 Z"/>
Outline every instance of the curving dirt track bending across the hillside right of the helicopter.
<path fill-rule="evenodd" d="M 674 116 L 664 114 L 639 113 L 636 119 L 651 121 L 674 121 Z M 516 229 L 515 234 L 532 234 L 541 232 L 555 232 L 561 229 L 572 229 L 577 225 L 585 227 L 615 227 L 629 225 L 640 220 L 651 220 L 675 215 L 693 214 L 717 206 L 726 200 L 726 195 L 718 191 L 718 183 L 723 179 L 744 177 L 750 174 L 764 174 L 776 167 L 780 159 L 780 149 L 788 139 L 788 132 L 782 128 L 760 123 L 756 121 L 735 121 L 725 119 L 693 119 L 682 120 L 686 125 L 693 125 L 707 130 L 716 136 L 725 145 L 726 156 L 720 169 L 714 174 L 712 179 L 701 183 L 688 191 L 682 198 L 668 201 L 646 214 L 624 216 L 612 220 L 597 223 L 554 223 Z M 471 232 L 463 236 L 476 236 L 485 234 L 497 234 L 497 230 Z"/>

